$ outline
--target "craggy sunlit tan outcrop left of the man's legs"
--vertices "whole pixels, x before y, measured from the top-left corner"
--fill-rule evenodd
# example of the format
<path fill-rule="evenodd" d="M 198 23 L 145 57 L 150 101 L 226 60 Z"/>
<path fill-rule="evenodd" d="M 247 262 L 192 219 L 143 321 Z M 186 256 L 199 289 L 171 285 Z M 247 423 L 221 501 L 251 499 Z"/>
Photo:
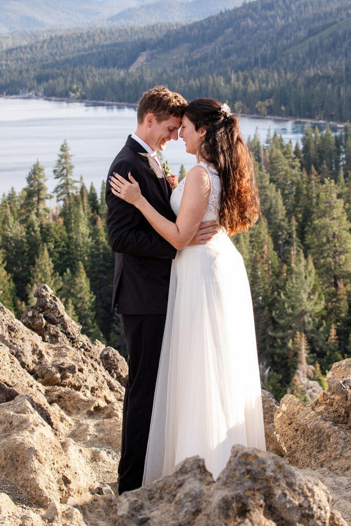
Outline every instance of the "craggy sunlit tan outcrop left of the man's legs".
<path fill-rule="evenodd" d="M 25 325 L 0 304 L 0 523 L 107 524 L 127 365 L 109 351 L 121 366 L 111 375 L 104 345 L 46 285 L 35 296 Z M 109 494 L 95 491 L 106 483 Z"/>

